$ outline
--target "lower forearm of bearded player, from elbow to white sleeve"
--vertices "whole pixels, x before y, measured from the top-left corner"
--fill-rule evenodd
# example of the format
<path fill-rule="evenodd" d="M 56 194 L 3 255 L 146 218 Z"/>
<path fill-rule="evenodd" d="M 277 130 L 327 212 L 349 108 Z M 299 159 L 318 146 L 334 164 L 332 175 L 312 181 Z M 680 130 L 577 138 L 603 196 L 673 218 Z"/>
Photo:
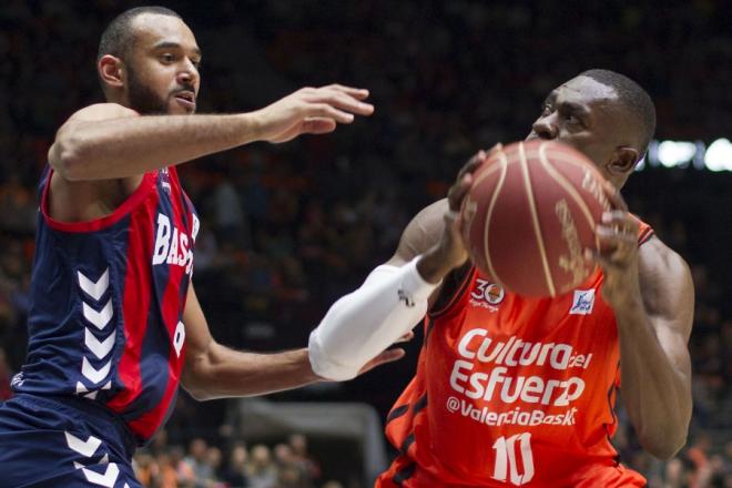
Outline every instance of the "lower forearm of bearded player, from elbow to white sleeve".
<path fill-rule="evenodd" d="M 214 344 L 205 357 L 186 364 L 183 386 L 196 399 L 207 400 L 266 395 L 319 379 L 311 368 L 307 349 L 257 354 Z"/>

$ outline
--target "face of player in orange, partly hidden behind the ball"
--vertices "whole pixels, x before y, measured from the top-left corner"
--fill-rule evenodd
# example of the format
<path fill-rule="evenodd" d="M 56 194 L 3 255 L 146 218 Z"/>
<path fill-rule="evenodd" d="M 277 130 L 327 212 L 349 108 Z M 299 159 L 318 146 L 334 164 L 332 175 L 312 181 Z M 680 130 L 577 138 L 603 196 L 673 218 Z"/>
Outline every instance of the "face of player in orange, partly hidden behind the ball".
<path fill-rule="evenodd" d="M 591 78 L 577 77 L 549 93 L 527 139 L 571 145 L 610 179 L 608 164 L 623 145 L 623 125 L 616 91 Z"/>

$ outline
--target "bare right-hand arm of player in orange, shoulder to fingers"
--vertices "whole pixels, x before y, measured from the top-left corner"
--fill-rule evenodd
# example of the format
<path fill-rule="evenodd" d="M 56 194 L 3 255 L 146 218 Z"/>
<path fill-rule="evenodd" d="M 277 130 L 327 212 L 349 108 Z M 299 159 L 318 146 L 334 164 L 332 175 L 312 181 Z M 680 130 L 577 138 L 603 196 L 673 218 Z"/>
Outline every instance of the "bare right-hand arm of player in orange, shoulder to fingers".
<path fill-rule="evenodd" d="M 683 447 L 691 420 L 694 308 L 691 273 L 681 256 L 652 237 L 640 248 L 638 223 L 618 194 L 598 227 L 603 298 L 620 339 L 622 400 L 643 448 L 668 459 Z"/>

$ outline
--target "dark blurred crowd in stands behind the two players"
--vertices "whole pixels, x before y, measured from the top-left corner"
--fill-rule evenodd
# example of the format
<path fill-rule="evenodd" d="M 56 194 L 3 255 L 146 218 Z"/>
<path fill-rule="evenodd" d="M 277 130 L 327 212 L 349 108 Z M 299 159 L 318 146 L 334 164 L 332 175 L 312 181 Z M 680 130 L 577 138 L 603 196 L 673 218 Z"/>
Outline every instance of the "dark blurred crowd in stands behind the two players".
<path fill-rule="evenodd" d="M 254 144 L 181 170 L 203 216 L 196 291 L 214 336 L 233 347 L 304 346 L 331 303 L 389 257 L 411 215 L 445 195 L 464 161 L 522 139 L 546 94 L 580 71 L 611 69 L 643 85 L 658 139 L 732 136 L 732 12 L 722 0 L 162 3 L 203 50 L 201 112 L 252 110 L 334 81 L 368 88 L 376 105 L 370 119 L 328 136 Z M 99 35 L 139 4 L 0 4 L 0 398 L 11 395 L 26 353 L 35 185 L 48 148 L 73 111 L 102 100 Z M 651 487 L 732 487 L 732 173 L 645 167 L 623 194 L 690 263 L 697 308 L 688 447 L 654 460 L 620 409 L 621 459 Z M 384 418 L 418 347 L 419 338 L 406 359 L 357 380 L 273 399 L 366 401 Z M 237 438 L 228 406 L 182 394 L 167 430 L 138 455 L 145 486 L 362 486 L 326 468 L 332 455 L 314 455 L 298 433 Z"/>

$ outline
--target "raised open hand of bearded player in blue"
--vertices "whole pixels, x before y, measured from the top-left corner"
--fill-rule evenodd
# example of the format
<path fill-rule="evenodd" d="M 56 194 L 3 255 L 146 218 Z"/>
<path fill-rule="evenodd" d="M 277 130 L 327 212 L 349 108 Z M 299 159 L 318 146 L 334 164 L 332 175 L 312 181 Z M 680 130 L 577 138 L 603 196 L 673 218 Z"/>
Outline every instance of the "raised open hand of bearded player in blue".
<path fill-rule="evenodd" d="M 364 102 L 368 90 L 340 84 L 304 88 L 253 113 L 257 139 L 274 143 L 301 134 L 325 134 L 355 115 L 370 115 L 374 105 Z"/>

